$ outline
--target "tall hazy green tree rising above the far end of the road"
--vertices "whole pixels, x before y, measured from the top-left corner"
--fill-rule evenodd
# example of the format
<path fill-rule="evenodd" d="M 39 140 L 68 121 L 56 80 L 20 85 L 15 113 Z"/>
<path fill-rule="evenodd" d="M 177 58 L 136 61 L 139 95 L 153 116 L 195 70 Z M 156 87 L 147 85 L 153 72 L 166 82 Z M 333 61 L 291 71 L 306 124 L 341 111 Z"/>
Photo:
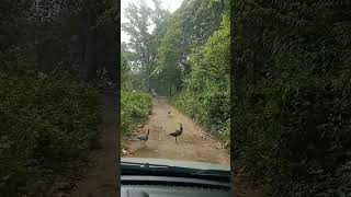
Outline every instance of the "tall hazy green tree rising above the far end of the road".
<path fill-rule="evenodd" d="M 224 4 L 218 2 L 217 8 L 211 7 L 211 2 L 185 0 L 165 22 L 154 73 L 157 84 L 169 89 L 170 96 L 183 88 L 192 71 L 192 50 L 204 45 L 220 25 Z"/>

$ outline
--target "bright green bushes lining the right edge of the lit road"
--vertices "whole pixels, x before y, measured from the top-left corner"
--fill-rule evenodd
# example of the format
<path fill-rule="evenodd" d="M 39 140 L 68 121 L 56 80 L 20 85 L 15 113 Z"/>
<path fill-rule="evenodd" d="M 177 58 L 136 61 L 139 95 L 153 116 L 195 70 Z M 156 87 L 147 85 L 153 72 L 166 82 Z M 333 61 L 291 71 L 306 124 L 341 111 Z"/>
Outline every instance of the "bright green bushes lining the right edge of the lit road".
<path fill-rule="evenodd" d="M 207 43 L 193 48 L 191 73 L 184 89 L 172 99 L 176 106 L 225 141 L 230 137 L 229 38 L 229 19 L 224 15 Z"/>

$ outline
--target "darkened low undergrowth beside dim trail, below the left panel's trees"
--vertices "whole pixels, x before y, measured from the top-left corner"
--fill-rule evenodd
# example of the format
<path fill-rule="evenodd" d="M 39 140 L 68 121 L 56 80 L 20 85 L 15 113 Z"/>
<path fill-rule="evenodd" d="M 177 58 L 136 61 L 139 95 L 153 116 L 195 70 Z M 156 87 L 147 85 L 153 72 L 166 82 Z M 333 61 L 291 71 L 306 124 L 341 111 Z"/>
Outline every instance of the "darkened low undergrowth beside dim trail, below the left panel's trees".
<path fill-rule="evenodd" d="M 81 170 L 100 135 L 98 95 L 68 73 L 0 77 L 0 194 L 37 196 Z"/>

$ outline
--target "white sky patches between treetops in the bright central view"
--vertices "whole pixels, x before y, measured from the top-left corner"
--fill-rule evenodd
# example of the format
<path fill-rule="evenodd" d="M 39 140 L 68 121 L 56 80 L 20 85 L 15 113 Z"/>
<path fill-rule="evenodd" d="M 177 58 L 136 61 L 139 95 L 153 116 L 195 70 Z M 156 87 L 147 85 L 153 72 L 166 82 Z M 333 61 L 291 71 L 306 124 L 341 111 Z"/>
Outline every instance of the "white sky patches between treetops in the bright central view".
<path fill-rule="evenodd" d="M 127 22 L 127 19 L 125 18 L 125 8 L 128 7 L 128 3 L 135 3 L 137 4 L 139 0 L 121 0 L 121 23 Z M 154 3 L 151 0 L 145 0 L 146 4 L 154 8 Z M 181 4 L 183 0 L 161 0 L 161 5 L 163 9 L 168 10 L 169 12 L 174 12 Z M 149 26 L 148 32 L 151 33 L 155 25 Z M 121 30 L 121 42 L 128 43 L 129 36 Z"/>

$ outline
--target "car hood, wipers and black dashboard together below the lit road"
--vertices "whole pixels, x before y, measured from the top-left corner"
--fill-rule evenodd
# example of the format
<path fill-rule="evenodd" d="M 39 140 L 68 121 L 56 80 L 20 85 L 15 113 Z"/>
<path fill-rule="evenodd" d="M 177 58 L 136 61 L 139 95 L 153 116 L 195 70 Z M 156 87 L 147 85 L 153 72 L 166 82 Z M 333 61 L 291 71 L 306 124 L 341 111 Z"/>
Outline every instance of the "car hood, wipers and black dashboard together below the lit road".
<path fill-rule="evenodd" d="M 228 171 L 122 162 L 122 197 L 224 197 L 230 193 Z"/>

